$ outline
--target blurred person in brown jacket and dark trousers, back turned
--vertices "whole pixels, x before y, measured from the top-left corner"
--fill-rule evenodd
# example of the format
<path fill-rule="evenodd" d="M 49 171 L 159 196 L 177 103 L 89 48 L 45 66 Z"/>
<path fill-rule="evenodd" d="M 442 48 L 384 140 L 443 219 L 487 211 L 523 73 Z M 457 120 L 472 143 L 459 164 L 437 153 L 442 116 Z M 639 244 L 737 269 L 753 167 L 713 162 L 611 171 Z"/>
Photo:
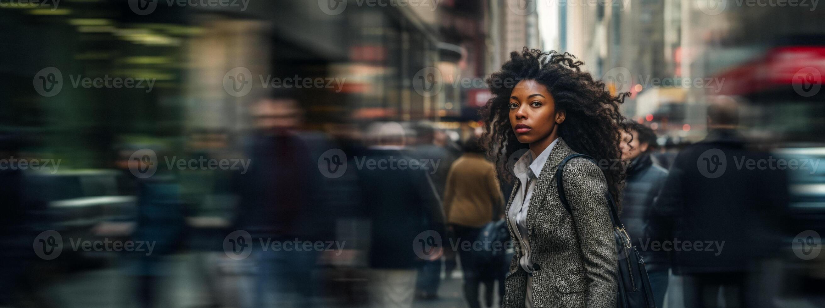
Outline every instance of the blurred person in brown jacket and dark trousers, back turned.
<path fill-rule="evenodd" d="M 450 166 L 444 198 L 444 210 L 450 230 L 459 247 L 461 272 L 464 275 L 464 297 L 470 308 L 479 308 L 479 284 L 484 271 L 499 268 L 481 268 L 476 262 L 479 252 L 465 250 L 479 239 L 481 228 L 502 217 L 504 200 L 498 189 L 496 167 L 484 157 L 477 139 L 465 142 L 464 155 Z M 503 282 L 503 281 L 502 281 Z M 492 303 L 488 302 L 492 306 Z"/>

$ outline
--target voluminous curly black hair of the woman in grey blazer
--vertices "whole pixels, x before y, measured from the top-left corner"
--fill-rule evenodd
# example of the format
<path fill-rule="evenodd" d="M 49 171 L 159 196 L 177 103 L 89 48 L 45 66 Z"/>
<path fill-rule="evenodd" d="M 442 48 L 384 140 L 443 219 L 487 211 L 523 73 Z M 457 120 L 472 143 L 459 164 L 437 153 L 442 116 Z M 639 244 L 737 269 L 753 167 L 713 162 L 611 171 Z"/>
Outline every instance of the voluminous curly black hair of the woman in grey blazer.
<path fill-rule="evenodd" d="M 587 154 L 596 161 L 619 161 L 621 150 L 620 130 L 627 131 L 622 123 L 625 117 L 619 105 L 629 92 L 613 96 L 606 91 L 605 83 L 594 80 L 589 72 L 582 72 L 584 63 L 573 54 L 555 51 L 542 53 L 539 49 L 527 49 L 519 54 L 510 53 L 510 60 L 502 70 L 487 79 L 493 94 L 481 114 L 488 128 L 483 134 L 483 145 L 502 180 L 512 183 L 515 177 L 509 172 L 507 158 L 528 145 L 516 139 L 510 124 L 510 96 L 521 80 L 535 80 L 547 87 L 553 96 L 557 110 L 565 111 L 565 119 L 559 124 L 559 137 L 575 152 Z M 624 166 L 619 163 L 599 164 L 607 180 L 610 194 L 620 207 L 620 191 L 624 184 Z"/>

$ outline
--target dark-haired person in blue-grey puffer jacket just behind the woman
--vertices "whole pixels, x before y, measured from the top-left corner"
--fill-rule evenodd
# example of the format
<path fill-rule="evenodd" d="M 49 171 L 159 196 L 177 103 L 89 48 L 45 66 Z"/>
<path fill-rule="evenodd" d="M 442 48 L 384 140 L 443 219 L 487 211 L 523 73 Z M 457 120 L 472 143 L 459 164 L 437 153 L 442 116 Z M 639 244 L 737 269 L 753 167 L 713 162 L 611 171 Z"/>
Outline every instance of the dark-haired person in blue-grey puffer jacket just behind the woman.
<path fill-rule="evenodd" d="M 667 170 L 653 161 L 651 152 L 656 150 L 656 134 L 653 130 L 636 122 L 625 124 L 630 133 L 622 131 L 622 161 L 625 162 L 625 189 L 622 191 L 624 210 L 622 222 L 634 245 L 641 250 L 647 265 L 648 277 L 653 287 L 653 297 L 657 307 L 662 307 L 667 292 L 667 277 L 670 264 L 666 251 L 644 250 L 649 247 L 649 239 L 643 238 L 644 217 L 653 206 L 653 199 L 662 189 Z M 632 134 L 631 134 L 632 133 Z"/>

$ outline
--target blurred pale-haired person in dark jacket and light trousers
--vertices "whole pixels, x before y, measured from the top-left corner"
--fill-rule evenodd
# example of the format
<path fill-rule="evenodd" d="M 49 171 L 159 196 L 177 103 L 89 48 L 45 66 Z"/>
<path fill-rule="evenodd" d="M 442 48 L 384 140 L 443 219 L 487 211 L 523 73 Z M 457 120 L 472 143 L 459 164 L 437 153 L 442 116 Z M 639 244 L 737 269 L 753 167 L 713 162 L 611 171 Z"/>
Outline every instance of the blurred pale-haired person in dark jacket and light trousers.
<path fill-rule="evenodd" d="M 368 128 L 368 144 L 361 157 L 358 180 L 364 212 L 371 226 L 371 302 L 375 307 L 410 307 L 422 261 L 412 249 L 424 231 L 443 234 L 444 217 L 436 191 L 427 178 L 429 170 L 410 166 L 403 127 L 394 122 Z M 394 164 L 392 161 L 395 161 Z M 356 159 L 357 164 L 357 159 Z M 374 165 L 373 165 L 374 164 Z M 370 167 L 373 166 L 373 167 Z M 428 247 L 432 259 L 441 247 Z M 425 252 L 426 253 L 426 252 Z"/>

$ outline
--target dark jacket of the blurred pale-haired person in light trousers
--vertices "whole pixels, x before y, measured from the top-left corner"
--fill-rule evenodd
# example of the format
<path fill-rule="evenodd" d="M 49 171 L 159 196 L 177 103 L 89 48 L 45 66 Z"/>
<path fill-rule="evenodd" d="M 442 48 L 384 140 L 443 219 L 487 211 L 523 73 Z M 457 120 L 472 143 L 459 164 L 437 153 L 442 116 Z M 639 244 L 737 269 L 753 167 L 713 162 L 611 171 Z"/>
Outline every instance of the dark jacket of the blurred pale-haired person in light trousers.
<path fill-rule="evenodd" d="M 368 149 L 358 170 L 361 200 L 370 220 L 370 267 L 412 269 L 421 261 L 413 241 L 423 231 L 444 234 L 444 216 L 436 192 L 427 179 L 427 170 L 370 169 L 370 160 L 409 160 L 401 151 Z M 357 168 L 356 162 L 356 168 Z M 444 242 L 446 243 L 446 242 Z"/>

